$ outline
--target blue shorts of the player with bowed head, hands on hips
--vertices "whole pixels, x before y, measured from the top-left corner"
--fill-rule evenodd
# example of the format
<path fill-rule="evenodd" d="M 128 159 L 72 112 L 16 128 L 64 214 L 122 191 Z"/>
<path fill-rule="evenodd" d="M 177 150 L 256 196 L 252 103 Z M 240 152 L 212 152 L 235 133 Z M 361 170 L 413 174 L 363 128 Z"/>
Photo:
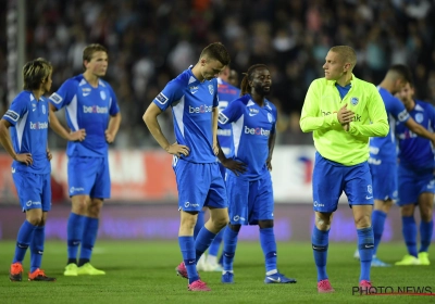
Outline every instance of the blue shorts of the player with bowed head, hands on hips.
<path fill-rule="evenodd" d="M 196 164 L 174 156 L 173 168 L 178 189 L 178 210 L 199 212 L 204 206 L 228 206 L 217 163 Z"/>

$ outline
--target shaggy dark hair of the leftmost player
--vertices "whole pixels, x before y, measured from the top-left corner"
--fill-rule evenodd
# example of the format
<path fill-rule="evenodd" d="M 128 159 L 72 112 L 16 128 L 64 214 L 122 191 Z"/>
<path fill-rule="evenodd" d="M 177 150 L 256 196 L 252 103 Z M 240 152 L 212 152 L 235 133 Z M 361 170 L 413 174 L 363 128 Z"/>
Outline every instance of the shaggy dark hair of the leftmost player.
<path fill-rule="evenodd" d="M 50 76 L 53 67 L 50 62 L 44 58 L 38 58 L 27 62 L 23 66 L 23 89 L 37 90 L 44 80 Z"/>

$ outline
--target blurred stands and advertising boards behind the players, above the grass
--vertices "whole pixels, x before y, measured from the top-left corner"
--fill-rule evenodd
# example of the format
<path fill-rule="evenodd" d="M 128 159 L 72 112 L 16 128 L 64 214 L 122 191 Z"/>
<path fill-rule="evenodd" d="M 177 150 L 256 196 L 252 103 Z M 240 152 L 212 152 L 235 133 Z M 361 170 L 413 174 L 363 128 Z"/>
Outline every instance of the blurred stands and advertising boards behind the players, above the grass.
<path fill-rule="evenodd" d="M 378 84 L 390 64 L 413 72 L 419 99 L 435 103 L 435 9 L 426 0 L 8 0 L 0 12 L 0 113 L 21 88 L 21 66 L 44 56 L 54 66 L 52 91 L 82 72 L 82 51 L 99 42 L 109 50 L 105 77 L 113 86 L 123 123 L 111 147 L 113 199 L 107 201 L 100 238 L 176 240 L 178 213 L 171 156 L 157 147 L 141 115 L 164 85 L 195 64 L 200 50 L 222 41 L 232 68 L 268 64 L 279 111 L 273 160 L 278 241 L 309 241 L 312 227 L 311 135 L 299 129 L 299 113 L 312 79 L 322 76 L 327 50 L 350 45 L 358 52 L 357 77 Z M 3 7 L 4 8 L 4 7 Z M 64 113 L 59 117 L 63 121 Z M 170 112 L 162 115 L 173 139 Z M 53 208 L 49 239 L 65 239 L 70 213 L 65 142 L 50 134 Z M 10 172 L 0 150 L 0 239 L 15 239 L 22 223 Z M 351 212 L 343 198 L 333 241 L 355 241 Z M 401 240 L 394 208 L 385 241 Z M 245 229 L 245 240 L 258 238 Z M 434 233 L 435 239 L 435 233 Z"/>

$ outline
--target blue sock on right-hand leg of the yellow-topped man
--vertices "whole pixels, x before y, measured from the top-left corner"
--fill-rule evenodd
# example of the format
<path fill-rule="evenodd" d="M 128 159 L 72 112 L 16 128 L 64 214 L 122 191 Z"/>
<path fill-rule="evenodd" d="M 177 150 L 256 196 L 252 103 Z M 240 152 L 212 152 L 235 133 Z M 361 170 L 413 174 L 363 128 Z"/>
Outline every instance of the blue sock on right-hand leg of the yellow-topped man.
<path fill-rule="evenodd" d="M 358 233 L 358 251 L 360 253 L 361 274 L 360 281 L 370 281 L 370 267 L 372 266 L 374 238 L 373 228 L 357 229 Z"/>

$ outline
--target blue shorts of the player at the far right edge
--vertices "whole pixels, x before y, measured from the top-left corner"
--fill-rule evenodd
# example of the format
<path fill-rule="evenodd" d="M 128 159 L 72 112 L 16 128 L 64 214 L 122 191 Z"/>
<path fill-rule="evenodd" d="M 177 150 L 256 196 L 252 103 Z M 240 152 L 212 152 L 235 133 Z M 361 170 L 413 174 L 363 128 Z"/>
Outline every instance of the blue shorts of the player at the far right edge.
<path fill-rule="evenodd" d="M 432 168 L 413 170 L 399 165 L 399 206 L 417 204 L 420 194 L 435 193 L 435 179 Z"/>

